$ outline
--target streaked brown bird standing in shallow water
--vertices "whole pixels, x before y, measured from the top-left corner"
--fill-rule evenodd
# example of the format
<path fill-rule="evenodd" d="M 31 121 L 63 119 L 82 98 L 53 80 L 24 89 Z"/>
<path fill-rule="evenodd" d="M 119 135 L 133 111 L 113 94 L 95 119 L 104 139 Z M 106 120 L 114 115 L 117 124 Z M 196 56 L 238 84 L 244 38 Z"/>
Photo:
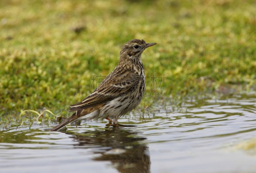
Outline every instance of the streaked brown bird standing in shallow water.
<path fill-rule="evenodd" d="M 57 131 L 67 124 L 85 119 L 107 119 L 117 125 L 119 117 L 131 112 L 141 102 L 145 92 L 145 73 L 142 52 L 156 43 L 133 39 L 122 46 L 115 69 L 81 102 L 71 105 L 74 112 L 49 131 Z"/>

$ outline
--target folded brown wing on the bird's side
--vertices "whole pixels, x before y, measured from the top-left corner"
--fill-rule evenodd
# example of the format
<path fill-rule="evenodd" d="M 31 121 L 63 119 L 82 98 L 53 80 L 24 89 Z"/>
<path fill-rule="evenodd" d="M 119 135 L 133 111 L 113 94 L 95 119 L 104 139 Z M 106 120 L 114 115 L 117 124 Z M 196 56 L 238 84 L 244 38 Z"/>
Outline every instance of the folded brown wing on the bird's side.
<path fill-rule="evenodd" d="M 138 74 L 132 73 L 131 71 L 123 71 L 118 74 L 120 75 L 115 75 L 115 71 L 113 71 L 89 96 L 84 98 L 83 101 L 71 105 L 69 112 L 106 103 L 119 97 L 122 93 L 130 93 L 135 89 L 136 82 L 139 80 Z"/>

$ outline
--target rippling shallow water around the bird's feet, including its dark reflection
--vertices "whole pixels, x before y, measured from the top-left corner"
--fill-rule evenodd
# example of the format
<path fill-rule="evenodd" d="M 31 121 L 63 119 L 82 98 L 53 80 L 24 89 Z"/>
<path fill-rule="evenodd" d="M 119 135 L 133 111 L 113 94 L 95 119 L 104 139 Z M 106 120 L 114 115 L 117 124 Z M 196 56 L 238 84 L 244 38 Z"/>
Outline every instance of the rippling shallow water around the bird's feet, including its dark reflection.
<path fill-rule="evenodd" d="M 2 129 L 0 172 L 256 172 L 255 101 L 255 94 L 189 100 L 119 120 L 136 127 Z"/>

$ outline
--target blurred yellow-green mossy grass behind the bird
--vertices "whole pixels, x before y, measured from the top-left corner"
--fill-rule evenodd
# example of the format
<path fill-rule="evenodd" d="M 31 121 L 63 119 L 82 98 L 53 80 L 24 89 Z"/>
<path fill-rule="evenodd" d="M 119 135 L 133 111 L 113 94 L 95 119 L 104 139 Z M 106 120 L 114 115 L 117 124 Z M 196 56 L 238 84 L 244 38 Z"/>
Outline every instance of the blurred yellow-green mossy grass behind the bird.
<path fill-rule="evenodd" d="M 69 116 L 69 105 L 92 92 L 91 75 L 108 75 L 134 38 L 158 43 L 142 55 L 147 92 L 249 89 L 255 16 L 253 0 L 1 1 L 0 122 L 17 121 L 25 109 Z M 153 74 L 167 77 L 161 89 L 150 87 Z"/>

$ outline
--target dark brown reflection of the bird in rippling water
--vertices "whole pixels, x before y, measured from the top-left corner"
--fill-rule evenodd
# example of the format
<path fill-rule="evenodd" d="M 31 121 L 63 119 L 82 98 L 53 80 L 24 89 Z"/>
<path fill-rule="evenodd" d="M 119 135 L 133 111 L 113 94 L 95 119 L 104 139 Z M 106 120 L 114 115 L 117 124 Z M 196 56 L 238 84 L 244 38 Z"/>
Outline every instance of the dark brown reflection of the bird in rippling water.
<path fill-rule="evenodd" d="M 136 137 L 138 132 L 120 128 L 68 133 L 74 135 L 78 144 L 75 147 L 97 148 L 100 153 L 95 161 L 110 161 L 112 166 L 123 173 L 150 172 L 148 146 L 143 144 L 146 138 Z"/>

